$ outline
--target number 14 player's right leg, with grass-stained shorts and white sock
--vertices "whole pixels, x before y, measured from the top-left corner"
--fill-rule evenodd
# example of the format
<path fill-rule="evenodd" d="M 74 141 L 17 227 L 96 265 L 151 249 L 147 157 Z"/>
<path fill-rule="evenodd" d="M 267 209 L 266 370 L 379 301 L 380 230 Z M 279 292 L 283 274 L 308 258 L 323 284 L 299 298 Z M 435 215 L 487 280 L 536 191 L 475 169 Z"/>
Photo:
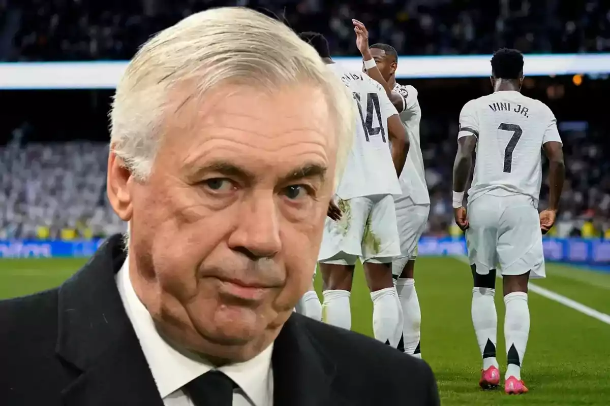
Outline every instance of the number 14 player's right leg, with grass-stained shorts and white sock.
<path fill-rule="evenodd" d="M 392 279 L 392 259 L 400 254 L 394 200 L 391 195 L 371 200 L 375 204 L 365 227 L 362 254 L 373 301 L 373 333 L 379 341 L 398 348 L 403 317 Z"/>

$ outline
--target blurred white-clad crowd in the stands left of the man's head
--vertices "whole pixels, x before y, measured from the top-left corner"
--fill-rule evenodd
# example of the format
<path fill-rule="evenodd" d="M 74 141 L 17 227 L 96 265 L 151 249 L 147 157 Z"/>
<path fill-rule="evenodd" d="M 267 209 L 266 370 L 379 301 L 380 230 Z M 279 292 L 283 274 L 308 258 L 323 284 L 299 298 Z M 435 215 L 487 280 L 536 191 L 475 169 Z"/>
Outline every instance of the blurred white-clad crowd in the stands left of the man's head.
<path fill-rule="evenodd" d="M 122 233 L 106 198 L 108 147 L 93 142 L 0 147 L 0 240 Z"/>

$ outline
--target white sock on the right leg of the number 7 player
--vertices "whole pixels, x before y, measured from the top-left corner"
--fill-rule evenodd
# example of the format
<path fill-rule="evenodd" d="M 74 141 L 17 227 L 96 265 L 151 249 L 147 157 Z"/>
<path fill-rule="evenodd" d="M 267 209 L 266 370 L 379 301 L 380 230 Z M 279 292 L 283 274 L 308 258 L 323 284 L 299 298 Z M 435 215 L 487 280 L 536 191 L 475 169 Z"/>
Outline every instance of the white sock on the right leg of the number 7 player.
<path fill-rule="evenodd" d="M 523 355 L 529 337 L 528 294 L 512 292 L 504 296 L 506 317 L 504 318 L 504 337 L 506 338 L 506 374 L 504 379 L 514 376 L 521 379 Z"/>

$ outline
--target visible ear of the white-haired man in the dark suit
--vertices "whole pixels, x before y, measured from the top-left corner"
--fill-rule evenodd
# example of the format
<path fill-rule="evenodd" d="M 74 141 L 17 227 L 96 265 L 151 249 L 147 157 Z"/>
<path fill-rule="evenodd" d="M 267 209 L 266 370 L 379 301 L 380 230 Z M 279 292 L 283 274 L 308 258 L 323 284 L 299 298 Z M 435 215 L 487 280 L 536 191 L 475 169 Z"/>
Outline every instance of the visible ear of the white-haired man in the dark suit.
<path fill-rule="evenodd" d="M 121 220 L 128 222 L 132 215 L 132 191 L 134 177 L 123 159 L 110 148 L 106 192 L 110 205 Z"/>

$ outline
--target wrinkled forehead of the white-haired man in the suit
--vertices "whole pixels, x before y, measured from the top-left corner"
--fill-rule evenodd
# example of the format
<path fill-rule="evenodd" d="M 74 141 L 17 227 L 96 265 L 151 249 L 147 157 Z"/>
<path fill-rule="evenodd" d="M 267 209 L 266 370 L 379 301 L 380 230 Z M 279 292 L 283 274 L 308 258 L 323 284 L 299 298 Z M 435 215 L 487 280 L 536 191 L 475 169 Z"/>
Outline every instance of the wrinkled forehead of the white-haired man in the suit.
<path fill-rule="evenodd" d="M 201 97 L 187 90 L 174 92 L 163 126 L 162 149 L 179 164 L 234 161 L 251 170 L 290 170 L 304 161 L 334 166 L 334 117 L 319 87 L 226 84 Z"/>

